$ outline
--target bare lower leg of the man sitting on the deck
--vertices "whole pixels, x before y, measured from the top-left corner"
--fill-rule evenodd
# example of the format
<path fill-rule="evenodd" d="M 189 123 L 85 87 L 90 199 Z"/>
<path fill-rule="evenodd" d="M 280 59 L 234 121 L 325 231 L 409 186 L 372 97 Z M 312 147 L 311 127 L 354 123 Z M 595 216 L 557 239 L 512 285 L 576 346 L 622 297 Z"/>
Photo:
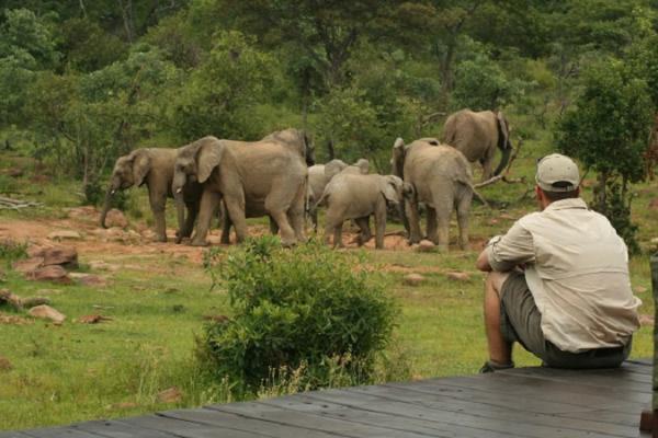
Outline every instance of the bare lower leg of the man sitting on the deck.
<path fill-rule="evenodd" d="M 485 330 L 489 346 L 489 359 L 494 366 L 512 364 L 512 344 L 507 342 L 500 330 L 500 291 L 509 273 L 490 272 L 485 283 Z"/>

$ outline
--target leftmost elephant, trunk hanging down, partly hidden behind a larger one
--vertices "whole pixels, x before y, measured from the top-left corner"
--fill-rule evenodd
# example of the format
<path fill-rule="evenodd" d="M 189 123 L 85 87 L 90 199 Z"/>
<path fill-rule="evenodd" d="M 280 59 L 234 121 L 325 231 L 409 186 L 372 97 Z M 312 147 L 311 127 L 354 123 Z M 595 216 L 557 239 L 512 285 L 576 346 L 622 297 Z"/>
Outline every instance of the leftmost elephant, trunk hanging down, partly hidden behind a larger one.
<path fill-rule="evenodd" d="M 156 222 L 156 239 L 159 242 L 167 242 L 164 207 L 167 198 L 173 197 L 171 183 L 173 182 L 173 165 L 177 155 L 178 149 L 143 148 L 120 157 L 114 164 L 110 186 L 105 194 L 105 204 L 101 212 L 101 227 L 106 228 L 107 210 L 112 197 L 117 191 L 146 185 Z M 183 186 L 182 201 L 183 208 L 188 209 L 188 215 L 185 218 L 183 212 L 183 220 L 179 223 L 179 237 L 191 234 L 200 200 L 201 186 L 198 184 L 191 183 Z"/>

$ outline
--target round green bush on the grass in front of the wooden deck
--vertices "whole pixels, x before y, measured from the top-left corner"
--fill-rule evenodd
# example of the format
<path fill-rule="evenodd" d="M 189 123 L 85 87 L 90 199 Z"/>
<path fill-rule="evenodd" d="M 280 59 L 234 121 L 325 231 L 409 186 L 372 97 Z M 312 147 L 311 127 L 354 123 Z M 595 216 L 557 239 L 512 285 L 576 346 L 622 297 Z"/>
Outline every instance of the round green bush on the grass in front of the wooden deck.
<path fill-rule="evenodd" d="M 198 357 L 248 393 L 372 381 L 396 307 L 358 262 L 318 242 L 286 250 L 275 238 L 249 240 L 211 267 L 234 316 L 206 325 Z"/>

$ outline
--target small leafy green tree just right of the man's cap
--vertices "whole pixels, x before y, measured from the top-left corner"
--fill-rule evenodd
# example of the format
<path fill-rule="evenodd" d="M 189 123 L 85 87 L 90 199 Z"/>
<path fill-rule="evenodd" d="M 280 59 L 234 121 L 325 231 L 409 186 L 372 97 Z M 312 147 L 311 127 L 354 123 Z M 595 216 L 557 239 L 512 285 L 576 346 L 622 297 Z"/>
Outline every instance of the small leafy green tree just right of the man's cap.
<path fill-rule="evenodd" d="M 585 71 L 582 91 L 558 122 L 558 149 L 598 172 L 594 208 L 605 215 L 631 250 L 637 249 L 629 220 L 629 184 L 645 177 L 643 153 L 653 122 L 647 83 L 617 59 Z"/>

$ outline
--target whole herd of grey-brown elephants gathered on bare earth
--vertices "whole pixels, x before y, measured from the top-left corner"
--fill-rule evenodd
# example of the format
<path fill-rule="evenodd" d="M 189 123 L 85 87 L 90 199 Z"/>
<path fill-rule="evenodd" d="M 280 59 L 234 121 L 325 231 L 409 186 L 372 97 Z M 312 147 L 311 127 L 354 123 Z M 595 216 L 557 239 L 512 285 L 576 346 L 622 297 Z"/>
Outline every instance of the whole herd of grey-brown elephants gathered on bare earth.
<path fill-rule="evenodd" d="M 483 178 L 504 169 L 512 149 L 502 113 L 462 110 L 445 122 L 442 141 L 421 138 L 410 143 L 398 138 L 393 147 L 393 174 L 370 173 L 365 159 L 349 165 L 341 160 L 315 164 L 314 148 L 298 129 L 273 132 L 258 141 L 204 137 L 178 149 L 137 149 L 116 160 L 101 224 L 113 195 L 146 185 L 155 218 L 156 238 L 167 241 L 164 206 L 175 200 L 177 243 L 191 238 L 192 245 L 206 245 L 213 219 L 220 214 L 222 243 L 230 229 L 238 242 L 247 238 L 247 218 L 270 217 L 273 233 L 282 244 L 306 240 L 306 216 L 317 230 L 317 209 L 326 207 L 325 241 L 341 246 L 345 220 L 359 227 L 358 242 L 372 238 L 374 217 L 376 247 L 384 247 L 387 207 L 400 211 L 409 243 L 423 239 L 419 205 L 427 209 L 427 239 L 447 250 L 449 224 L 457 214 L 460 245 L 468 245 L 468 212 L 473 198 L 469 162 L 480 162 Z M 496 149 L 502 152 L 495 172 Z"/>

